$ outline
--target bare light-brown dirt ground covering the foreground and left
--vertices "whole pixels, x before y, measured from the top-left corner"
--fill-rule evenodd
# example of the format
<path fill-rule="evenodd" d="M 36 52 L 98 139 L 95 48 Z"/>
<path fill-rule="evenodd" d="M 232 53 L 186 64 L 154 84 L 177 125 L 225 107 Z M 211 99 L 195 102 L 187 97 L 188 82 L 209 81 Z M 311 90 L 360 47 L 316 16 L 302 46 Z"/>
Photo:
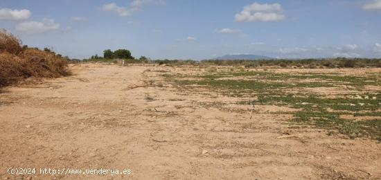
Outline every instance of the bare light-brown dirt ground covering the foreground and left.
<path fill-rule="evenodd" d="M 171 67 L 71 69 L 75 75 L 1 90 L 1 179 L 381 179 L 380 143 L 290 129 L 292 115 L 276 112 L 294 109 L 208 106 L 229 98 L 175 89 L 158 73 Z M 132 174 L 11 175 L 8 168 Z"/>

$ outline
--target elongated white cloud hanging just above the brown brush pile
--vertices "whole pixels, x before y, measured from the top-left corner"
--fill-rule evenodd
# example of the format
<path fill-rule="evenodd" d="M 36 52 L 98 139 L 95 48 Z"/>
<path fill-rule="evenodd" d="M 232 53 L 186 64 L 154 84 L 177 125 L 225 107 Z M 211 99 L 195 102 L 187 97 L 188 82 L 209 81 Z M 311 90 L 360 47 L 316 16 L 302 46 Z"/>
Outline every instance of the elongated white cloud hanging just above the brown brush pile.
<path fill-rule="evenodd" d="M 42 21 L 26 21 L 17 24 L 16 30 L 26 34 L 46 33 L 51 30 L 58 30 L 60 24 L 55 23 L 53 19 L 42 19 Z"/>

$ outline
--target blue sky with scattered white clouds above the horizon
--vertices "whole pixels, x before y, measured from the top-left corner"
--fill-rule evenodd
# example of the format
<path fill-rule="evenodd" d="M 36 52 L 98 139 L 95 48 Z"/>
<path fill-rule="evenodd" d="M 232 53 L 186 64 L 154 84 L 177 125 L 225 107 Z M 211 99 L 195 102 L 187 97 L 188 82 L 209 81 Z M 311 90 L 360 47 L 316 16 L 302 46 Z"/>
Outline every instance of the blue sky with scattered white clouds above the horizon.
<path fill-rule="evenodd" d="M 0 28 L 73 58 L 381 57 L 381 0 L 0 0 Z"/>

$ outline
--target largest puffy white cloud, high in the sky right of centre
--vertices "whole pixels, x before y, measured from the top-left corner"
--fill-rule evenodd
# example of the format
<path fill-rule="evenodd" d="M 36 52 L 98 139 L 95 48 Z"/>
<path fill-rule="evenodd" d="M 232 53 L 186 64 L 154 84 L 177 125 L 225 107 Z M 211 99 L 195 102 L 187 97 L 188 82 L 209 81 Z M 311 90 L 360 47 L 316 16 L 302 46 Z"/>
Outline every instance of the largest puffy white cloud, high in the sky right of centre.
<path fill-rule="evenodd" d="M 282 21 L 285 19 L 285 15 L 281 11 L 282 6 L 279 3 L 253 3 L 245 6 L 240 13 L 236 14 L 236 21 Z"/>

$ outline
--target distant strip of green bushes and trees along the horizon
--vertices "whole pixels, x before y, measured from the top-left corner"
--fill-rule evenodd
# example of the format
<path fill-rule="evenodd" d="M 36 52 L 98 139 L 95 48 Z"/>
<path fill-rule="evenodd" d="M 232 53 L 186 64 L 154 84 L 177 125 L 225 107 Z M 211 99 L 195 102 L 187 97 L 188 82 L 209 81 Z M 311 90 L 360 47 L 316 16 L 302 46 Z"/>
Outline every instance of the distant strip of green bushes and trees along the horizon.
<path fill-rule="evenodd" d="M 44 51 L 50 51 L 45 48 Z M 65 57 L 69 59 L 68 57 Z M 302 60 L 150 60 L 145 56 L 139 59 L 132 56 L 131 52 L 127 49 L 118 49 L 112 51 L 106 49 L 103 51 L 103 56 L 92 55 L 89 59 L 85 60 L 71 60 L 71 62 L 118 62 L 116 59 L 127 60 L 127 63 L 148 63 L 148 64 L 165 64 L 165 65 L 195 65 L 195 66 L 245 66 L 261 67 L 261 66 L 274 66 L 280 68 L 361 68 L 361 67 L 379 67 L 381 68 L 381 59 L 373 58 L 323 58 L 323 59 L 302 59 Z"/>

